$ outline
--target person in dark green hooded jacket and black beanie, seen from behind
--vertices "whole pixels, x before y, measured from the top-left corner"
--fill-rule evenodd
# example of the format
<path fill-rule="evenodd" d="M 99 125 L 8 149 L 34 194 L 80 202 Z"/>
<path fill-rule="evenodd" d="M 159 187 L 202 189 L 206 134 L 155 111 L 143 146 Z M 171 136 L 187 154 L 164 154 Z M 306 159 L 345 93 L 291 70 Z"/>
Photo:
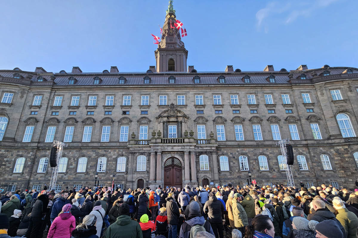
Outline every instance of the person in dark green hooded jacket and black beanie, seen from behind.
<path fill-rule="evenodd" d="M 143 238 L 139 223 L 129 216 L 127 203 L 119 207 L 119 214 L 117 221 L 107 228 L 103 238 Z"/>

